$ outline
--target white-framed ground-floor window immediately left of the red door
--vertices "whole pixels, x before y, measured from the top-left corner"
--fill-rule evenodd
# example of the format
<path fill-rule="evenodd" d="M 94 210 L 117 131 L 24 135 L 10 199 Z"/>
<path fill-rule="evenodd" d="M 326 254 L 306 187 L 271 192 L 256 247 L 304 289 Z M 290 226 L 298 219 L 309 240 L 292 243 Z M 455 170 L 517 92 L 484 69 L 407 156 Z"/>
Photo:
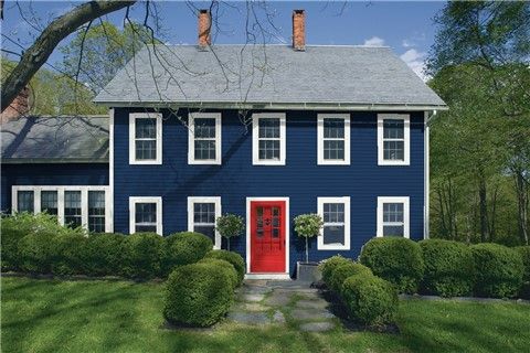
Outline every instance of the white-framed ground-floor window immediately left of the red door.
<path fill-rule="evenodd" d="M 188 197 L 188 231 L 209 236 L 216 249 L 221 248 L 221 235 L 215 221 L 221 216 L 221 197 Z"/>

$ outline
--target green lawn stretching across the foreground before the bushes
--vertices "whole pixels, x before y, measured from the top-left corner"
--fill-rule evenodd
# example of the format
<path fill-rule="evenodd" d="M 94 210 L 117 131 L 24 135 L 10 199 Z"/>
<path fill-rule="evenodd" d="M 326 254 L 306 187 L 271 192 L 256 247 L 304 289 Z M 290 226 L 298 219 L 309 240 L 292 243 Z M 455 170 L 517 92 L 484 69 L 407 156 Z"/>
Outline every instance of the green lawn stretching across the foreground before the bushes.
<path fill-rule="evenodd" d="M 2 352 L 524 352 L 530 306 L 406 300 L 401 334 L 165 329 L 163 285 L 2 278 Z"/>

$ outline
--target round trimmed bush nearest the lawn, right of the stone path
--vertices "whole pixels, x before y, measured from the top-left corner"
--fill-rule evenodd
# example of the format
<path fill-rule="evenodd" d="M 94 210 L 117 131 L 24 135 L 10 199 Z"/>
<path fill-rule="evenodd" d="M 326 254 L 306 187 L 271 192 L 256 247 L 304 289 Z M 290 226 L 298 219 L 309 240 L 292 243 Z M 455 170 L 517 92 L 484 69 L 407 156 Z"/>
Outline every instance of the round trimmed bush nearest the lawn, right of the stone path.
<path fill-rule="evenodd" d="M 349 315 L 368 325 L 392 323 L 398 310 L 398 291 L 389 281 L 373 275 L 348 277 L 341 288 Z"/>

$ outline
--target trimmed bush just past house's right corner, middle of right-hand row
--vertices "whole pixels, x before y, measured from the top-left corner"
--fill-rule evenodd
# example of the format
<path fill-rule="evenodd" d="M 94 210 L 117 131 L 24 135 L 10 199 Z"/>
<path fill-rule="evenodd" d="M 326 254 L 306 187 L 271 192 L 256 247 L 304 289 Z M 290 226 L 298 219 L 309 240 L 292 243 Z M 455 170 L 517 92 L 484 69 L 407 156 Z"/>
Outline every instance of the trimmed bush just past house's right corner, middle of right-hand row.
<path fill-rule="evenodd" d="M 420 242 L 425 271 L 422 289 L 442 297 L 468 296 L 473 292 L 475 263 L 469 246 L 452 240 Z"/>

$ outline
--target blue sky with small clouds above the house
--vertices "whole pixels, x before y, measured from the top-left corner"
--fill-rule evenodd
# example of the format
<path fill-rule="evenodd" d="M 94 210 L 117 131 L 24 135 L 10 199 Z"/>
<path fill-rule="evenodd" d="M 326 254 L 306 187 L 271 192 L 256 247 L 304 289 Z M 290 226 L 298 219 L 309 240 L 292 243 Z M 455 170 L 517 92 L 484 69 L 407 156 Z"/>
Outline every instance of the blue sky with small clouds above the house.
<path fill-rule="evenodd" d="M 2 49 L 18 53 L 32 43 L 39 29 L 80 2 L 33 0 L 19 1 L 19 3 L 22 11 L 19 10 L 15 1 L 7 0 L 1 28 Z M 306 10 L 307 45 L 388 45 L 423 78 L 423 64 L 436 32 L 433 18 L 445 4 L 442 1 L 266 1 L 265 3 L 266 9 L 255 3 L 253 10 L 258 22 L 272 33 L 265 39 L 267 43 L 290 43 L 292 12 L 294 9 L 304 9 Z M 198 9 L 209 6 L 210 2 L 193 3 Z M 160 25 L 159 38 L 170 44 L 197 43 L 197 17 L 188 3 L 159 1 L 156 9 Z M 132 8 L 131 17 L 142 20 L 145 13 L 145 4 L 138 3 Z M 214 43 L 244 43 L 247 3 L 244 1 L 221 3 L 218 14 L 220 31 L 214 35 Z M 266 21 L 267 14 L 272 17 L 271 23 Z M 123 25 L 124 15 L 125 11 L 115 12 L 109 14 L 107 20 Z M 38 20 L 32 20 L 34 18 Z M 150 21 L 155 24 L 152 18 Z M 70 40 L 71 38 L 67 38 L 61 44 Z M 61 62 L 62 54 L 55 50 L 49 63 L 57 65 Z"/>

